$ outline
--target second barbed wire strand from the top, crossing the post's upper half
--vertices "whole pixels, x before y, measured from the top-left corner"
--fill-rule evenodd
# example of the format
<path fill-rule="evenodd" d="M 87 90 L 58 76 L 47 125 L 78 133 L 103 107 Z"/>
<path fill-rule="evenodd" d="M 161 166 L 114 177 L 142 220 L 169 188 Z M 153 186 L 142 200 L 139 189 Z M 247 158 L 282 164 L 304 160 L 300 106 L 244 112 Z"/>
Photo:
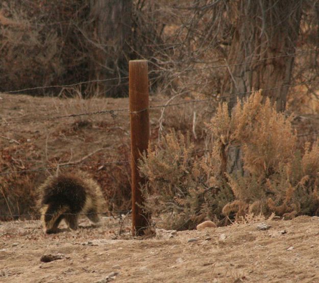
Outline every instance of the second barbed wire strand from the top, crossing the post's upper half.
<path fill-rule="evenodd" d="M 318 83 L 318 82 L 308 81 L 308 82 L 302 82 L 302 83 L 298 83 L 298 84 L 289 84 L 289 85 L 284 85 L 284 86 L 280 86 L 280 87 L 262 89 L 261 91 L 264 92 L 264 91 L 271 91 L 271 90 L 287 88 L 287 87 L 302 86 L 302 85 L 312 85 L 312 84 L 315 84 L 315 83 Z M 173 103 L 173 104 L 150 106 L 149 109 L 173 107 L 173 106 L 186 105 L 186 104 L 197 103 L 197 102 L 207 102 L 207 101 L 211 101 L 211 100 L 222 99 L 222 98 L 238 96 L 238 95 L 244 95 L 244 94 L 249 94 L 249 93 L 251 93 L 251 91 L 238 92 L 238 93 L 233 93 L 233 94 L 229 94 L 229 95 L 222 95 L 222 96 L 214 96 L 214 97 L 205 98 L 205 99 L 192 99 L 192 100 L 188 100 L 188 101 L 176 102 L 176 103 Z M 139 110 L 139 111 L 134 111 L 133 113 L 140 113 L 140 112 L 143 112 L 145 110 L 148 110 L 148 108 L 144 108 L 144 109 Z M 124 112 L 124 111 L 130 111 L 130 109 L 124 108 L 124 109 L 102 110 L 102 111 L 86 112 L 86 113 L 80 113 L 80 114 L 69 114 L 69 115 L 62 115 L 62 116 L 52 116 L 52 117 L 46 117 L 46 118 L 37 119 L 37 120 L 2 122 L 2 123 L 0 123 L 0 125 L 34 123 L 34 122 L 42 122 L 42 121 L 47 121 L 47 120 L 56 120 L 56 119 L 62 119 L 62 118 L 72 118 L 72 117 L 79 117 L 79 116 L 86 116 L 86 115 L 96 115 L 96 114 L 111 114 L 111 115 L 115 115 L 115 112 Z"/>

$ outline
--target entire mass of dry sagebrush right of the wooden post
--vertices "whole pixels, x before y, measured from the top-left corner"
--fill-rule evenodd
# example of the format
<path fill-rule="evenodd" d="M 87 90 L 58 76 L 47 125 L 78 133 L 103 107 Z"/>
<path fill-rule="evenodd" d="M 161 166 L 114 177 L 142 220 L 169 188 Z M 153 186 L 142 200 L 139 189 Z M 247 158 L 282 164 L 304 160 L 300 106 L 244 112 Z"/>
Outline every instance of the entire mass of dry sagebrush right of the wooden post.
<path fill-rule="evenodd" d="M 240 222 L 247 214 L 317 214 L 319 140 L 298 150 L 291 120 L 259 91 L 238 100 L 231 116 L 226 103 L 219 105 L 207 124 L 212 150 L 202 157 L 193 154 L 189 135 L 167 134 L 140 163 L 148 178 L 145 210 L 162 215 L 164 227 L 174 229 L 204 219 Z M 241 148 L 243 170 L 227 173 L 234 146 Z"/>

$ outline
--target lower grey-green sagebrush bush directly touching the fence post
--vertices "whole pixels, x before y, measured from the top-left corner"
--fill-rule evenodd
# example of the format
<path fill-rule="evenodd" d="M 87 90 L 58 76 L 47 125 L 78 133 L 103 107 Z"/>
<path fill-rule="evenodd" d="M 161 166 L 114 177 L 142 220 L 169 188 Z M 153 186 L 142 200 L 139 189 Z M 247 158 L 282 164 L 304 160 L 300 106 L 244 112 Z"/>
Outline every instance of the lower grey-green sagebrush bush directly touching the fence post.
<path fill-rule="evenodd" d="M 161 138 L 160 146 L 150 146 L 140 162 L 140 172 L 148 178 L 144 209 L 161 216 L 164 228 L 194 228 L 206 217 L 220 215 L 231 197 L 230 190 L 207 187 L 211 176 L 193 153 L 189 135 L 171 131 Z M 205 158 L 213 162 L 210 155 Z"/>

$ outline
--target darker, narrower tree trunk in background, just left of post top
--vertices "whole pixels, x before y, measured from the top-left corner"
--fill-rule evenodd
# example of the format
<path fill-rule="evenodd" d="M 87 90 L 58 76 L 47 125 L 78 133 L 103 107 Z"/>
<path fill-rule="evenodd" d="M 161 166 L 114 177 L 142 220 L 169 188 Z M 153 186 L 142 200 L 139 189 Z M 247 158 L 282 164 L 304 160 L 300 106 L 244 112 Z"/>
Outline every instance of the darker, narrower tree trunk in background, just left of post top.
<path fill-rule="evenodd" d="M 103 96 L 128 96 L 128 61 L 132 33 L 132 0 L 92 0 L 94 53 L 91 80 L 116 78 L 95 85 Z"/>

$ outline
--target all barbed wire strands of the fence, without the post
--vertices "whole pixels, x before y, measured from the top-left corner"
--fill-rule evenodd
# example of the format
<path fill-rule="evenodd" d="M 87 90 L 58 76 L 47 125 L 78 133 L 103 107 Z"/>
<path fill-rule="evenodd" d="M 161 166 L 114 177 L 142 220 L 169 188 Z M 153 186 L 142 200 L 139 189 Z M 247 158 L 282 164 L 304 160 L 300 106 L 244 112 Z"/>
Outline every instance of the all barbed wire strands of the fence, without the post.
<path fill-rule="evenodd" d="M 309 49 L 305 50 L 302 52 L 296 52 L 292 54 L 284 54 L 284 55 L 278 55 L 274 57 L 268 57 L 268 58 L 261 58 L 258 60 L 250 60 L 247 62 L 239 62 L 239 63 L 234 63 L 234 64 L 228 64 L 228 65 L 218 65 L 218 66 L 209 66 L 209 67 L 204 67 L 204 68 L 191 68 L 191 69 L 184 69 L 184 70 L 153 70 L 150 71 L 152 72 L 190 72 L 190 71 L 198 71 L 198 70 L 206 70 L 206 69 L 215 69 L 215 68 L 226 68 L 230 66 L 239 66 L 239 65 L 246 65 L 246 64 L 251 64 L 251 63 L 257 63 L 257 62 L 263 62 L 266 60 L 271 60 L 275 58 L 282 58 L 282 57 L 291 57 L 291 56 L 297 56 L 297 55 L 307 55 L 313 52 L 317 52 L 318 49 Z M 71 88 L 71 87 L 76 87 L 79 85 L 83 84 L 89 84 L 89 83 L 95 83 L 95 82 L 106 82 L 106 81 L 112 81 L 112 80 L 118 80 L 119 78 L 111 78 L 111 79 L 105 79 L 105 80 L 90 80 L 90 81 L 85 81 L 85 82 L 79 82 L 75 84 L 68 84 L 68 85 L 52 85 L 52 86 L 38 86 L 38 87 L 33 87 L 33 88 L 24 88 L 24 89 L 19 89 L 19 90 L 12 90 L 12 91 L 6 91 L 4 93 L 19 93 L 23 91 L 30 91 L 30 90 L 37 90 L 37 89 L 50 89 L 50 88 Z M 129 79 L 128 76 L 124 78 L 120 78 L 121 80 L 127 80 Z M 295 83 L 295 84 L 287 84 L 279 87 L 273 87 L 273 88 L 268 88 L 268 89 L 263 89 L 263 92 L 266 91 L 272 91 L 276 89 L 282 89 L 282 88 L 289 88 L 289 87 L 296 87 L 296 86 L 302 86 L 302 85 L 314 85 L 318 84 L 319 82 L 317 81 L 305 81 L 301 83 Z M 209 102 L 212 100 L 220 100 L 232 96 L 241 96 L 241 95 L 246 95 L 251 93 L 250 91 L 247 92 L 237 92 L 237 93 L 232 93 L 229 95 L 219 95 L 215 94 L 212 95 L 212 97 L 205 98 L 205 99 L 192 99 L 192 100 L 187 100 L 187 101 L 179 101 L 176 103 L 169 103 L 169 104 L 160 104 L 160 105 L 154 105 L 150 106 L 150 110 L 155 110 L 155 109 L 164 109 L 167 107 L 176 107 L 176 106 L 185 106 L 188 104 L 197 104 L 197 103 L 203 103 L 203 102 Z M 138 112 L 145 111 L 147 109 L 142 109 Z M 76 117 L 82 117 L 82 116 L 91 116 L 91 115 L 105 115 L 109 114 L 111 115 L 112 118 L 116 118 L 117 113 L 120 112 L 128 112 L 130 113 L 130 110 L 128 108 L 122 108 L 122 109 L 106 109 L 106 110 L 100 110 L 100 111 L 93 111 L 93 112 L 84 112 L 84 113 L 73 113 L 69 115 L 48 115 L 48 117 L 43 117 L 41 119 L 27 119 L 27 120 L 22 120 L 22 121 L 6 121 L 6 122 L 1 122 L 0 126 L 7 126 L 7 125 L 14 125 L 14 124 L 28 124 L 28 123 L 39 123 L 39 122 L 44 122 L 44 121 L 55 121 L 59 119 L 65 119 L 65 118 L 76 118 Z M 135 112 L 134 112 L 135 113 Z M 304 134 L 298 134 L 298 137 L 305 137 L 305 136 L 311 136 L 311 135 L 319 135 L 319 132 L 311 132 L 311 133 L 304 133 Z M 211 149 L 202 149 L 198 151 L 194 151 L 193 154 L 199 154 L 202 152 L 207 152 L 210 151 Z M 72 167 L 86 167 L 86 166 L 99 166 L 99 165 L 124 165 L 124 164 L 129 164 L 129 160 L 118 160 L 118 161 L 110 161 L 110 162 L 92 162 L 92 163 L 83 163 L 79 162 L 77 164 L 64 164 L 60 166 L 55 166 L 55 167 L 43 167 L 43 168 L 30 168 L 30 169 L 23 169 L 23 170 L 13 170 L 13 171 L 6 171 L 6 172 L 0 172 L 0 176 L 5 176 L 5 175 L 10 175 L 10 174 L 21 174 L 21 173 L 30 173 L 30 172 L 41 172 L 41 171 L 48 171 L 48 170 L 58 170 L 60 168 L 72 168 Z M 118 215 L 118 219 L 122 219 L 122 215 L 128 215 L 130 211 L 104 211 L 104 212 L 98 212 L 95 214 L 101 214 L 101 215 L 111 215 L 112 217 L 115 217 L 114 215 Z M 75 215 L 75 214 L 64 214 L 64 215 Z M 76 215 L 84 215 L 82 213 L 76 214 Z M 86 214 L 85 214 L 86 215 Z M 43 216 L 43 214 L 9 214 L 9 215 L 0 215 L 0 217 L 11 217 L 11 218 L 17 218 L 17 217 L 40 217 Z"/>

